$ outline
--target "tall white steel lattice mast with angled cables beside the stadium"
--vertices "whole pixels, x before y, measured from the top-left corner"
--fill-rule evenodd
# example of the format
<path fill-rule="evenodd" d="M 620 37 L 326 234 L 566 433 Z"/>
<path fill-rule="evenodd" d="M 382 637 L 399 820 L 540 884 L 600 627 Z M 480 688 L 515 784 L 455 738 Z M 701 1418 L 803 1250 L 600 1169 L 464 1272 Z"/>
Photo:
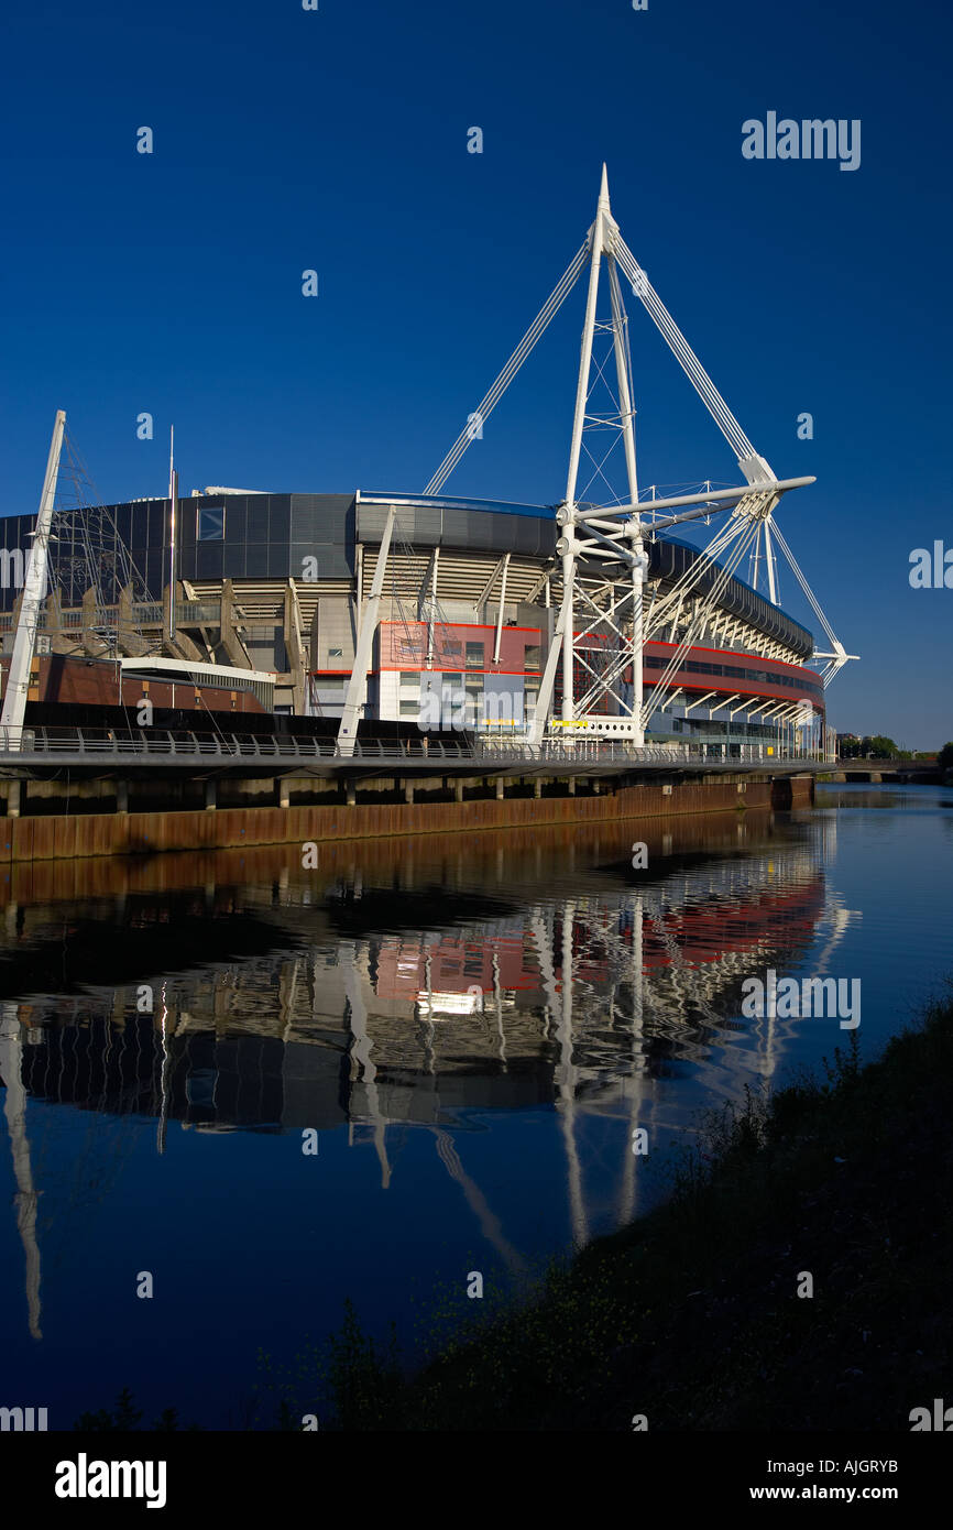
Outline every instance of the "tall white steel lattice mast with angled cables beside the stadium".
<path fill-rule="evenodd" d="M 610 323 L 597 321 L 597 306 L 603 265 L 607 271 Z M 560 731 L 563 737 L 577 730 L 600 728 L 606 716 L 612 716 L 612 733 L 624 734 L 636 745 L 644 745 L 646 725 L 655 711 L 672 704 L 675 676 L 688 649 L 699 640 L 713 620 L 728 581 L 739 569 L 745 555 L 754 571 L 757 589 L 759 571 L 766 574 L 768 597 L 779 603 L 774 546 L 780 548 L 799 580 L 812 610 L 818 617 L 832 652 L 815 653 L 826 659 L 821 679 L 826 684 L 843 664 L 857 655 L 846 652 L 835 636 L 831 623 L 802 574 L 777 523 L 774 511 L 789 490 L 814 483 L 814 477 L 779 479 L 771 465 L 760 456 L 746 433 L 728 409 L 728 404 L 691 350 L 688 341 L 668 314 L 665 304 L 649 282 L 649 277 L 623 239 L 609 203 L 609 181 L 603 167 L 603 181 L 595 222 L 586 243 L 566 268 L 540 314 L 526 330 L 512 356 L 480 402 L 476 416 L 480 425 L 496 407 L 503 392 L 535 347 L 540 337 L 566 301 L 569 292 L 589 266 L 586 317 L 583 324 L 580 369 L 569 447 L 569 470 L 566 494 L 557 511 L 560 536 L 555 545 L 561 560 L 563 589 L 555 623 L 554 641 L 549 646 L 546 667 L 540 684 L 531 742 L 538 745 L 548 731 Z M 659 330 L 662 340 L 682 367 L 685 376 L 705 404 L 714 424 L 730 445 L 743 485 L 711 490 L 701 485 L 688 494 L 667 499 L 639 494 L 635 451 L 635 404 L 632 386 L 632 361 L 629 352 L 629 321 L 623 303 L 621 275 Z M 616 379 L 616 413 L 598 415 L 590 407 L 594 386 L 594 338 L 598 332 L 612 334 L 612 353 Z M 603 366 L 597 363 L 595 381 L 607 384 Z M 473 421 L 474 416 L 471 416 Z M 590 506 L 578 496 L 580 457 L 584 448 L 584 433 L 592 428 L 613 427 L 624 445 L 629 502 Z M 427 485 L 428 494 L 436 494 L 467 451 L 474 436 L 468 424 L 457 436 L 450 453 Z M 592 457 L 595 474 L 603 476 L 604 459 Z M 649 560 L 646 543 L 661 531 L 688 520 L 728 514 L 702 555 L 665 592 L 658 586 L 646 609 L 646 575 Z M 642 701 L 642 649 L 652 638 L 661 638 L 672 629 L 672 640 L 681 630 L 678 647 L 652 695 Z M 561 667 L 561 719 L 555 721 L 554 698 L 557 675 Z M 630 679 L 626 676 L 630 675 Z M 577 693 L 577 678 L 581 688 Z M 779 704 L 783 705 L 783 704 Z M 739 710 L 739 708 L 736 708 Z M 353 715 L 350 718 L 353 724 Z"/>

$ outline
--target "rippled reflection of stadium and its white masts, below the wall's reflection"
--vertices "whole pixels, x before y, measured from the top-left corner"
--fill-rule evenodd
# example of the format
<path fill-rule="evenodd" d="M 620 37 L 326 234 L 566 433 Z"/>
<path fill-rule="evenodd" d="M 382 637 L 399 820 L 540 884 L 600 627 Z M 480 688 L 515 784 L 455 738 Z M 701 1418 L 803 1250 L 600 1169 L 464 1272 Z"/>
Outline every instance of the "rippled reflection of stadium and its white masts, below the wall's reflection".
<path fill-rule="evenodd" d="M 493 894 L 483 895 L 483 912 L 471 892 L 463 926 L 447 932 L 437 920 L 433 933 L 419 930 L 436 907 L 437 866 L 424 861 L 416 880 L 411 868 L 398 887 L 396 852 L 390 848 L 389 863 L 378 842 L 364 848 L 363 871 L 333 869 L 329 858 L 317 938 L 314 883 L 278 874 L 280 926 L 307 930 L 309 944 L 168 978 L 154 990 L 151 1016 L 138 1013 L 138 981 L 84 998 L 6 1002 L 0 1076 L 31 1323 L 38 1328 L 40 1253 L 28 1099 L 98 1112 L 96 1141 L 109 1163 L 96 1151 L 95 1195 L 119 1172 L 122 1121 L 148 1115 L 159 1151 L 171 1121 L 197 1131 L 346 1126 L 352 1144 L 373 1146 L 384 1186 L 395 1129 L 431 1131 L 441 1163 L 512 1267 L 520 1258 L 463 1167 L 465 1137 L 454 1144 L 453 1132 L 473 1112 L 554 1105 L 574 1236 L 584 1241 L 597 1215 L 590 1192 L 603 1203 L 609 1195 L 620 1218 L 633 1215 L 635 1157 L 626 1155 L 620 1186 L 607 1189 L 589 1164 L 584 1121 L 664 1134 L 691 1114 L 665 1083 L 673 1069 L 688 1066 L 719 1099 L 737 1094 L 753 1073 L 772 1076 L 797 1022 L 736 1019 L 742 979 L 795 965 L 811 944 L 821 975 L 851 918 L 825 883 L 832 819 L 769 843 L 750 842 L 753 825 L 708 820 L 705 855 L 678 851 L 679 842 L 698 843 L 698 823 L 670 820 L 653 832 L 653 864 L 662 869 L 652 881 L 629 871 L 627 831 L 600 829 L 598 860 L 586 854 L 580 868 L 563 831 L 548 843 L 534 832 L 532 851 L 520 848 L 511 860 L 502 846 L 483 846 L 482 884 Z M 488 874 L 494 858 L 499 894 Z M 569 890 L 534 897 L 557 881 L 560 864 Z M 447 861 L 439 875 L 453 880 Z M 211 912 L 217 897 L 214 887 L 197 894 L 196 913 L 202 904 Z M 248 912 L 234 887 L 222 887 L 220 898 L 222 912 Z M 514 903 L 525 916 L 514 915 Z M 144 904 L 138 920 L 161 909 Z M 381 927 L 390 933 L 373 933 Z M 29 939 L 29 923 L 23 933 Z M 86 1172 L 76 1167 L 78 1184 Z"/>

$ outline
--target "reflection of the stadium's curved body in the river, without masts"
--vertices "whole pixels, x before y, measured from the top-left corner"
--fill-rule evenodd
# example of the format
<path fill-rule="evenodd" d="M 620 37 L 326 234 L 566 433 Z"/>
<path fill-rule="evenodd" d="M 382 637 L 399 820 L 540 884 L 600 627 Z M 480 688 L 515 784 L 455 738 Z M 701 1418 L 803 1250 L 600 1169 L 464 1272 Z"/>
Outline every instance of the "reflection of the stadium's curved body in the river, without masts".
<path fill-rule="evenodd" d="M 746 831 L 731 822 L 717 832 L 730 851 Z M 672 854 L 672 832 L 659 838 Z M 300 916 L 309 949 L 168 979 L 154 1021 L 136 1014 L 135 985 L 116 990 L 109 1019 L 89 1019 L 102 1016 L 90 999 L 52 1001 L 44 1013 L 89 1024 L 34 1028 L 23 1077 L 38 1097 L 220 1128 L 436 1123 L 552 1100 L 624 1108 L 627 1080 L 652 1080 L 673 1056 L 704 1066 L 717 1028 L 746 1028 L 733 1021 L 742 978 L 806 949 L 826 892 L 809 842 L 672 858 L 653 881 L 623 861 L 630 890 L 615 860 L 626 831 L 603 832 L 603 845 L 609 881 L 583 869 L 571 895 L 540 901 L 535 866 L 525 886 L 508 869 L 503 912 L 491 900 L 462 929 L 433 933 L 419 933 L 433 904 L 419 907 L 410 887 L 395 894 L 385 871 L 332 872 L 314 944 L 314 887 L 286 878 L 281 915 L 292 929 Z M 506 912 L 512 900 L 528 913 Z M 31 1005 L 18 1010 L 37 1027 Z M 759 1071 L 774 1069 L 783 1031 L 776 1022 L 759 1039 Z"/>

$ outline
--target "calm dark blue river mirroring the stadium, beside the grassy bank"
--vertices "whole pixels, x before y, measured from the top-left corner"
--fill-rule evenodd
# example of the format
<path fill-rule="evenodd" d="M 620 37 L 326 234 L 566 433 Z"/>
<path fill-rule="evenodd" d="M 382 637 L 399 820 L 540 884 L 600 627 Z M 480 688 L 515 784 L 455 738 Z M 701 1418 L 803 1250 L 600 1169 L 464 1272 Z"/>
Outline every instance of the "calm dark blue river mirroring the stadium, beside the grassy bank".
<path fill-rule="evenodd" d="M 701 1112 L 847 1045 L 837 1017 L 746 1019 L 746 976 L 860 979 L 861 1057 L 942 990 L 951 851 L 953 789 L 818 786 L 307 869 L 12 869 L 0 1406 L 69 1429 L 128 1386 L 147 1420 L 243 1427 L 257 1351 L 292 1362 L 346 1297 L 408 1346 L 473 1271 L 520 1281 L 644 1212 Z"/>

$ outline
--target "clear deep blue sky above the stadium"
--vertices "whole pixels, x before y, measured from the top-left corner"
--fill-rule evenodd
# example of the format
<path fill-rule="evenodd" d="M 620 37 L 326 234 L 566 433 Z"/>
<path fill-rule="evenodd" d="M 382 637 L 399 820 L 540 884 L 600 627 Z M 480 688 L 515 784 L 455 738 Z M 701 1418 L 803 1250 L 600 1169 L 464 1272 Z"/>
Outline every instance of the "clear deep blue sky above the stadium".
<path fill-rule="evenodd" d="M 861 653 L 831 721 L 944 742 L 953 591 L 910 589 L 909 557 L 953 546 L 950 43 L 939 0 L 37 0 L 5 23 L 0 513 L 35 511 L 58 407 L 107 500 L 165 491 L 171 421 L 185 491 L 422 490 L 581 243 L 604 159 L 757 450 L 817 474 L 779 519 Z M 860 119 L 860 168 L 742 158 L 769 110 Z M 561 497 L 581 304 L 447 493 Z M 736 480 L 629 309 L 641 480 Z M 782 603 L 808 618 L 783 572 Z"/>

